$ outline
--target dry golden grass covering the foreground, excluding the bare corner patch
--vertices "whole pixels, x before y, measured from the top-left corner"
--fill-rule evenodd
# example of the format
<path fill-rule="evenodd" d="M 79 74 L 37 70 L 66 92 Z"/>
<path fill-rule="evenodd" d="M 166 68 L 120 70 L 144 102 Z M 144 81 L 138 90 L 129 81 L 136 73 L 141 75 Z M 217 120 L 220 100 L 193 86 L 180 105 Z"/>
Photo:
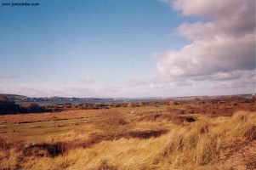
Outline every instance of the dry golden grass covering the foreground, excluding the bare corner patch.
<path fill-rule="evenodd" d="M 144 116 L 146 113 L 139 114 Z M 61 143 L 63 145 L 46 141 L 41 145 L 37 143 L 38 147 L 29 143 L 18 147 L 14 141 L 1 140 L 0 167 L 35 170 L 224 169 L 225 161 L 236 150 L 256 140 L 256 112 L 238 111 L 231 117 L 197 116 L 196 122 L 179 125 L 162 119 L 146 121 L 138 115 L 125 117 L 126 120 L 122 120 L 117 128 L 131 122 L 134 123 L 133 128 L 125 132 L 118 131 L 118 138 L 114 139 L 106 139 L 102 129 L 94 132 L 97 129 L 95 122 L 105 121 L 101 119 L 104 115 L 99 114 L 96 121 L 92 120 L 94 125 L 88 128 L 90 133 L 81 133 L 83 139 L 77 138 L 78 133 L 73 133 L 73 137 L 69 137 L 71 139 L 60 138 L 59 142 L 66 143 Z M 76 116 L 81 115 L 75 113 L 69 118 Z M 139 135 L 143 136 L 149 130 L 161 127 L 169 132 L 152 135 L 152 138 L 136 138 L 136 135 L 131 135 L 139 131 Z M 33 150 L 28 150 L 29 147 Z M 51 156 L 52 152 L 58 154 Z M 253 167 L 255 162 L 252 160 L 245 162 L 245 166 Z"/>

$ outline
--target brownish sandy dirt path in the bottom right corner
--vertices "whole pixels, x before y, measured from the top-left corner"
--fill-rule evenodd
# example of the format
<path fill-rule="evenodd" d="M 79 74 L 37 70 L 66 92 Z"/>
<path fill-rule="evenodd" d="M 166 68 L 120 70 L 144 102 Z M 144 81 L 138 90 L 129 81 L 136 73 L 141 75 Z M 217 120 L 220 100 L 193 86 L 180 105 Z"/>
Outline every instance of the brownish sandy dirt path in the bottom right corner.
<path fill-rule="evenodd" d="M 242 146 L 224 162 L 225 170 L 256 170 L 256 141 Z"/>

